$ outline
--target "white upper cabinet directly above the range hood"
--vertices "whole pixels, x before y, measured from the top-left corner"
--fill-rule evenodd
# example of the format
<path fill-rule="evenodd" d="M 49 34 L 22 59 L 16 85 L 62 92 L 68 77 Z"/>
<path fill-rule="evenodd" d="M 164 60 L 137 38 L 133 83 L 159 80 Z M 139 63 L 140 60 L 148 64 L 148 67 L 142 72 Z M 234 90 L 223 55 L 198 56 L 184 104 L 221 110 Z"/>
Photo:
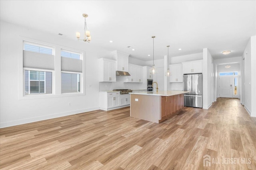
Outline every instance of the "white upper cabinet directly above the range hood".
<path fill-rule="evenodd" d="M 112 51 L 112 55 L 116 58 L 116 70 L 128 72 L 128 53 L 121 51 Z"/>

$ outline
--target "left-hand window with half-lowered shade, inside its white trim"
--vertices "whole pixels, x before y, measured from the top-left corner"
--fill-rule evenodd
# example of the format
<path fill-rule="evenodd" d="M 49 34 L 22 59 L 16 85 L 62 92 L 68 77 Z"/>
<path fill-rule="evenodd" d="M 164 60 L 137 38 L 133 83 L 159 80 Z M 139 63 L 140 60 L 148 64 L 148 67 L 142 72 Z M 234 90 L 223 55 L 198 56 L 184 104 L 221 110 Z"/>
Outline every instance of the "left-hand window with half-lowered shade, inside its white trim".
<path fill-rule="evenodd" d="M 27 41 L 23 47 L 24 94 L 52 94 L 54 47 Z"/>

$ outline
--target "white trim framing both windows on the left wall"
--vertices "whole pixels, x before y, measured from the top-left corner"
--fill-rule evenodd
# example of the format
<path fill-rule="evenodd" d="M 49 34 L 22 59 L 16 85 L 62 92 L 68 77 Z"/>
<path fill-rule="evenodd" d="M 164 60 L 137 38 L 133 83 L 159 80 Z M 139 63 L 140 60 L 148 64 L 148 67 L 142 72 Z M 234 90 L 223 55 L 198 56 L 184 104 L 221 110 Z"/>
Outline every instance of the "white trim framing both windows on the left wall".
<path fill-rule="evenodd" d="M 23 66 L 23 51 L 24 51 L 24 42 L 32 43 L 33 45 L 42 45 L 42 47 L 52 47 L 53 57 L 54 57 L 54 69 L 44 69 L 44 68 L 32 68 L 32 67 L 24 67 Z M 20 36 L 18 37 L 18 53 L 19 64 L 18 64 L 18 84 L 19 84 L 19 93 L 18 100 L 31 100 L 31 99 L 43 99 L 43 98 L 60 98 L 60 97 L 73 97 L 73 96 L 85 96 L 86 95 L 86 80 L 85 80 L 85 72 L 86 72 L 86 61 L 85 54 L 86 52 L 81 49 L 76 49 L 76 47 L 70 46 L 66 47 L 64 45 L 58 45 L 54 43 L 48 43 L 45 41 L 39 41 L 36 39 L 31 39 L 28 37 Z M 75 93 L 61 93 L 61 49 L 80 53 L 80 60 L 82 60 L 82 72 L 78 72 L 80 74 L 80 92 Z M 25 95 L 24 90 L 24 70 L 35 70 L 35 71 L 48 71 L 52 72 L 52 94 L 33 94 L 33 95 Z M 72 72 L 73 73 L 73 72 Z M 77 73 L 77 72 L 74 72 Z"/>

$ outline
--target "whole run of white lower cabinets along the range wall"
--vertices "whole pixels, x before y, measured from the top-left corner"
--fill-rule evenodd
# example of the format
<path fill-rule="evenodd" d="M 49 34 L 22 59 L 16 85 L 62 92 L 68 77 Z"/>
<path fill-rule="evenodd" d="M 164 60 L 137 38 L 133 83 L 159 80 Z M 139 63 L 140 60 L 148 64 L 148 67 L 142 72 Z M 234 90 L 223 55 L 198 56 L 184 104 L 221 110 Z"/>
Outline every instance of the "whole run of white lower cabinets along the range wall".
<path fill-rule="evenodd" d="M 119 91 L 113 92 L 99 92 L 100 97 L 100 109 L 112 110 L 130 105 L 130 94 L 120 94 Z"/>

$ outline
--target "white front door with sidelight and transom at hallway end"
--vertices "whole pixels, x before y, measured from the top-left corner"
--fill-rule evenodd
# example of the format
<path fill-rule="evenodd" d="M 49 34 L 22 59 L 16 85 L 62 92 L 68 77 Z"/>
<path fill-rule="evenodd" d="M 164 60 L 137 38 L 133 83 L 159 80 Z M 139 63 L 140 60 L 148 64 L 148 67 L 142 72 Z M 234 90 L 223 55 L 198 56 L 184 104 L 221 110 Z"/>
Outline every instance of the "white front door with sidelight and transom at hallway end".
<path fill-rule="evenodd" d="M 219 73 L 219 96 L 240 98 L 238 72 Z"/>

